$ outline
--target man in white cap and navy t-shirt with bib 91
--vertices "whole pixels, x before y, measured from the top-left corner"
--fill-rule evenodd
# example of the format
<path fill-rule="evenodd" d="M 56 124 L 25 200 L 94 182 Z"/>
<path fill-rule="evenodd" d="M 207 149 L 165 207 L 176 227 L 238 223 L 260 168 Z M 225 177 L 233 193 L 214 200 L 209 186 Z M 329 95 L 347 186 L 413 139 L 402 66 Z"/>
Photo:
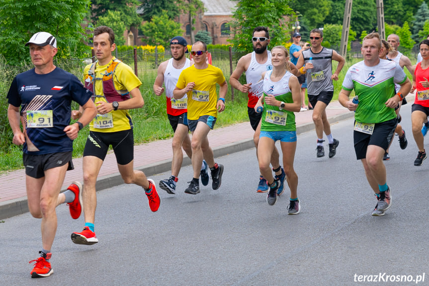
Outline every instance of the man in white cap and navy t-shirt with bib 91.
<path fill-rule="evenodd" d="M 25 45 L 30 46 L 34 69 L 13 79 L 7 94 L 7 116 L 12 142 L 24 145 L 28 208 L 32 216 L 42 219 L 42 250 L 38 259 L 30 261 L 35 262 L 31 277 L 36 278 L 53 273 L 49 260 L 57 230 L 56 206 L 67 202 L 74 219 L 81 215 L 80 184 L 73 184 L 61 194 L 60 190 L 66 171 L 73 170 L 73 140 L 95 116 L 96 108 L 89 100 L 92 93 L 78 78 L 54 65 L 54 36 L 38 32 Z M 83 114 L 70 125 L 72 100 L 83 106 Z"/>

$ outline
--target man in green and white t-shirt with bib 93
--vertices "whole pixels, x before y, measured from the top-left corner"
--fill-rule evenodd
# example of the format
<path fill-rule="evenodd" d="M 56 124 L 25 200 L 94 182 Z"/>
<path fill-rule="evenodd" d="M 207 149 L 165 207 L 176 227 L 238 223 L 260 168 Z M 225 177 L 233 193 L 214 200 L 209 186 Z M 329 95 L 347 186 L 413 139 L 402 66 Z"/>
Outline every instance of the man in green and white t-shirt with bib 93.
<path fill-rule="evenodd" d="M 378 33 L 370 33 L 363 39 L 364 60 L 348 69 L 338 98 L 344 107 L 355 111 L 354 150 L 377 197 L 372 212 L 376 216 L 384 215 L 392 203 L 383 155 L 398 124 L 394 108 L 411 89 L 410 80 L 397 63 L 378 57 L 380 49 Z M 401 86 L 397 94 L 395 83 Z M 349 100 L 352 90 L 358 97 L 357 104 Z"/>

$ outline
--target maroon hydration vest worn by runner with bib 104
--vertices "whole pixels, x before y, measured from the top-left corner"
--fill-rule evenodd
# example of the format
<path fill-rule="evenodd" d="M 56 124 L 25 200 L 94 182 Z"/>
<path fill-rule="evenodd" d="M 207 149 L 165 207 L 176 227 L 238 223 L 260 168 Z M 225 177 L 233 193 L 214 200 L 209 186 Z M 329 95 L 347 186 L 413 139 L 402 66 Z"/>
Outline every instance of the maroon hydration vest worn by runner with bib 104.
<path fill-rule="evenodd" d="M 91 67 L 89 68 L 88 74 L 85 76 L 85 87 L 87 90 L 92 92 L 92 100 L 95 100 L 96 97 L 103 97 L 107 102 L 124 101 L 130 99 L 130 93 L 127 90 L 117 91 L 115 89 L 115 84 L 113 83 L 115 69 L 118 64 L 121 63 L 121 61 L 118 59 L 112 61 L 112 63 L 107 67 L 106 72 L 104 74 L 101 74 L 103 76 L 102 78 L 95 77 L 96 63 L 98 63 L 98 61 L 92 63 Z M 95 94 L 94 81 L 99 80 L 103 81 L 102 95 Z"/>

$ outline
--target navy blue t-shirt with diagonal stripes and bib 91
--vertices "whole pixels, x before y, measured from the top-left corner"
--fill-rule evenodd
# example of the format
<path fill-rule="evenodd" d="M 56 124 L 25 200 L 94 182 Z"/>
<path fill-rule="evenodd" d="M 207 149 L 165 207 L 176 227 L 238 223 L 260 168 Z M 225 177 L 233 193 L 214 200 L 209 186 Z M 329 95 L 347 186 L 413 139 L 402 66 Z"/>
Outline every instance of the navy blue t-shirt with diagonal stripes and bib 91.
<path fill-rule="evenodd" d="M 42 155 L 73 151 L 63 131 L 70 124 L 72 100 L 85 105 L 92 93 L 78 78 L 60 68 L 46 75 L 34 69 L 17 75 L 7 93 L 8 103 L 19 107 L 26 132 L 23 152 Z"/>

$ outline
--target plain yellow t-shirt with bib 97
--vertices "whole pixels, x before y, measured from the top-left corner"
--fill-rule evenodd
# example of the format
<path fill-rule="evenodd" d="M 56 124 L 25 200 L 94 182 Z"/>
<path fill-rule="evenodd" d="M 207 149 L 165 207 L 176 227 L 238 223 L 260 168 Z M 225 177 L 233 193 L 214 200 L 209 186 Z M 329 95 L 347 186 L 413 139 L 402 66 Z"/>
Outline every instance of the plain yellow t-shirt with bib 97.
<path fill-rule="evenodd" d="M 191 66 L 180 73 L 176 87 L 182 90 L 191 82 L 195 82 L 195 87 L 187 93 L 188 119 L 197 120 L 203 115 L 217 117 L 216 84 L 225 82 L 221 69 L 208 65 L 207 69 L 198 70 Z"/>

